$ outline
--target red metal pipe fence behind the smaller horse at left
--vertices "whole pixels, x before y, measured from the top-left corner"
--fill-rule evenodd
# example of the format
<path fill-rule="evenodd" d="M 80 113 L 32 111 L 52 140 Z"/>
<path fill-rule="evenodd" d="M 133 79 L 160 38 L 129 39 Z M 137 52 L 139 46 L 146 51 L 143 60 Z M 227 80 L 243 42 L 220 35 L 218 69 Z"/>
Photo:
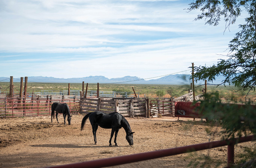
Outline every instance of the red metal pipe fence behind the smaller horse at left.
<path fill-rule="evenodd" d="M 51 114 L 53 102 L 67 103 L 70 113 L 80 112 L 80 99 L 72 100 L 24 100 L 0 98 L 0 117 L 43 116 Z"/>

